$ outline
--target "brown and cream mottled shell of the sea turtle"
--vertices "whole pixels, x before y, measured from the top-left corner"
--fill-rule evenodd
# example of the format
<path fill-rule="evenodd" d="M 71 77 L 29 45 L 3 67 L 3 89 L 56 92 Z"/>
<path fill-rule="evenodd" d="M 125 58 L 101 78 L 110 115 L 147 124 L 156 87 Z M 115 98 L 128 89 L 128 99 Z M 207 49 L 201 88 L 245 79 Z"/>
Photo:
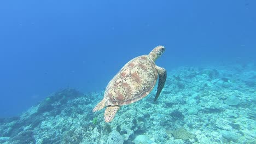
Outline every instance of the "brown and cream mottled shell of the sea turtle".
<path fill-rule="evenodd" d="M 106 106 L 127 105 L 146 97 L 154 88 L 158 70 L 148 55 L 133 58 L 108 83 Z"/>

